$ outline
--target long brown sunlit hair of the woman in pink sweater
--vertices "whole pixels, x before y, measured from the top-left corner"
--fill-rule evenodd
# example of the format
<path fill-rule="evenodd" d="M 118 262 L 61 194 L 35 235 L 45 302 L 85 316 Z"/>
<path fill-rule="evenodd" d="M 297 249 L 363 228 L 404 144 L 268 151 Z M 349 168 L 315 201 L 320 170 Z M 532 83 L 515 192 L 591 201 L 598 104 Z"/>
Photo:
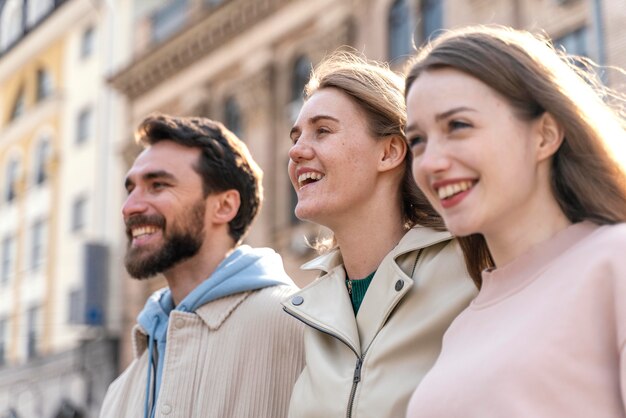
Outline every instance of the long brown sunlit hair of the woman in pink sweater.
<path fill-rule="evenodd" d="M 469 27 L 444 33 L 418 52 L 409 63 L 405 93 L 422 72 L 447 67 L 497 91 L 522 119 L 550 113 L 565 133 L 551 170 L 561 210 L 571 222 L 614 224 L 626 221 L 626 171 L 610 141 L 623 146 L 626 140 L 626 101 L 593 77 L 592 65 L 526 31 Z M 494 266 L 487 243 L 480 234 L 460 242 L 470 275 L 480 286 L 481 271 Z"/>

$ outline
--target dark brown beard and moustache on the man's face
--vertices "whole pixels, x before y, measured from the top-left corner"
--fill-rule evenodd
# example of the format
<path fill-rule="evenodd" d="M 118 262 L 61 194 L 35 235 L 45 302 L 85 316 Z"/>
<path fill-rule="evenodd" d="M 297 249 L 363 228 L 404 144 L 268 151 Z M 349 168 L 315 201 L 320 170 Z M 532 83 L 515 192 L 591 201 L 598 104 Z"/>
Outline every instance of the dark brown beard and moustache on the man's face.
<path fill-rule="evenodd" d="M 196 203 L 188 212 L 178 217 L 182 226 L 172 224 L 166 234 L 165 219 L 160 215 L 136 215 L 126 223 L 128 249 L 124 257 L 126 271 L 135 279 L 147 279 L 174 267 L 200 251 L 204 242 L 204 200 Z M 133 248 L 130 228 L 134 225 L 155 225 L 161 228 L 164 243 L 151 252 L 143 248 Z M 143 254 L 146 252 L 146 254 Z"/>

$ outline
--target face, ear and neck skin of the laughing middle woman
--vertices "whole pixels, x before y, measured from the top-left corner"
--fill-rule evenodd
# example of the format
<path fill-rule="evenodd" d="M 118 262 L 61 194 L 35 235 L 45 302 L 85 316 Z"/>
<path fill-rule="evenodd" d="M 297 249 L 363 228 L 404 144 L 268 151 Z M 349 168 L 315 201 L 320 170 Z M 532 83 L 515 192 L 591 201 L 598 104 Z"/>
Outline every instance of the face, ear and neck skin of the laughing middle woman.
<path fill-rule="evenodd" d="M 306 101 L 291 139 L 296 215 L 333 231 L 348 277 L 367 276 L 405 233 L 398 196 L 405 142 L 374 138 L 355 102 L 335 88 Z"/>

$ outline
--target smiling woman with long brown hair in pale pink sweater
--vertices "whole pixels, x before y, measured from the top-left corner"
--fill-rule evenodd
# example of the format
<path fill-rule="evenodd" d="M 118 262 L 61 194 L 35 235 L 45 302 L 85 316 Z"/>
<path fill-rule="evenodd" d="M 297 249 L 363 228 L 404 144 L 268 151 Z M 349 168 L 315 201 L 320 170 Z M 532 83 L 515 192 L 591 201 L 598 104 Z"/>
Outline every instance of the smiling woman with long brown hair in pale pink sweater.
<path fill-rule="evenodd" d="M 482 286 L 408 417 L 626 416 L 624 101 L 562 55 L 473 27 L 412 64 L 413 174 Z"/>

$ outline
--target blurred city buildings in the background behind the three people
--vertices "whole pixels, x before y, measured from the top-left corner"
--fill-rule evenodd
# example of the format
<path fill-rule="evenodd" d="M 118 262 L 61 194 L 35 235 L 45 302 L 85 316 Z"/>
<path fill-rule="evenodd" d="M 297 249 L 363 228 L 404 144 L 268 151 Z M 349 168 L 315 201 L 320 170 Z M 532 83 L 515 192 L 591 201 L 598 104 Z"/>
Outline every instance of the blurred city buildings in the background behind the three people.
<path fill-rule="evenodd" d="M 626 67 L 623 0 L 0 0 L 0 19 L 0 417 L 97 416 L 131 360 L 130 328 L 164 285 L 121 266 L 123 177 L 149 113 L 218 119 L 248 144 L 265 202 L 246 242 L 305 285 L 319 230 L 293 215 L 287 152 L 326 54 L 349 45 L 401 71 L 441 29 L 499 23 Z"/>

